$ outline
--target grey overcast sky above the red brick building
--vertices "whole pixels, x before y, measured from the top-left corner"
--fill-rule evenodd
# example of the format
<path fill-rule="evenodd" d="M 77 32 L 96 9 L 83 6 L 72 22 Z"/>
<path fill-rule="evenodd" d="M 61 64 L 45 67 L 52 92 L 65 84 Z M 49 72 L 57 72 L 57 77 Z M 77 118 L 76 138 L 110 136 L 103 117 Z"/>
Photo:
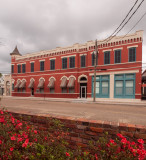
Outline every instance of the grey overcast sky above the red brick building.
<path fill-rule="evenodd" d="M 0 0 L 0 72 L 10 72 L 10 53 L 16 45 L 21 54 L 26 54 L 107 38 L 135 1 Z M 118 35 L 126 34 L 145 12 L 146 1 Z M 146 69 L 145 29 L 146 15 L 131 33 L 144 30 Z"/>

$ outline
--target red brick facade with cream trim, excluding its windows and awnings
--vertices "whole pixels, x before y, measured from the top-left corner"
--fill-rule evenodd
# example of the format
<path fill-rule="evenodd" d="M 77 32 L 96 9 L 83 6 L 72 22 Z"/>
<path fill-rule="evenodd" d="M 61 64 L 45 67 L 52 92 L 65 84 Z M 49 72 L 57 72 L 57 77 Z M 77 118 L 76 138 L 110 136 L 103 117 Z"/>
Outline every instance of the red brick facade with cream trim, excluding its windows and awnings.
<path fill-rule="evenodd" d="M 142 31 L 137 31 L 134 34 L 114 37 L 111 41 L 106 43 L 106 40 L 98 41 L 98 62 L 97 62 L 97 76 L 108 75 L 108 88 L 106 88 L 108 98 L 116 98 L 115 96 L 115 75 L 121 74 L 133 74 L 133 97 L 141 99 L 141 67 L 142 67 Z M 129 62 L 129 48 L 135 48 L 136 57 L 135 60 Z M 52 98 L 79 98 L 79 97 L 92 97 L 94 66 L 92 66 L 92 53 L 95 50 L 95 42 L 88 41 L 85 44 L 74 44 L 70 47 L 60 48 L 57 47 L 54 50 L 40 51 L 38 53 L 21 55 L 17 49 L 11 53 L 11 65 L 13 66 L 12 84 L 16 86 L 18 80 L 22 82 L 25 80 L 25 89 L 14 88 L 12 96 L 32 96 L 31 88 L 28 88 L 31 79 L 34 79 L 34 91 L 35 97 L 52 97 Z M 115 50 L 121 50 L 121 62 L 115 63 Z M 110 51 L 110 63 L 104 64 L 104 52 Z M 85 67 L 81 67 L 81 56 L 85 55 Z M 75 67 L 70 68 L 69 59 L 75 57 Z M 62 69 L 62 58 L 67 58 L 67 69 Z M 50 60 L 55 60 L 55 70 L 50 70 Z M 44 71 L 40 71 L 40 62 L 44 61 Z M 34 72 L 31 72 L 31 63 L 34 63 Z M 21 65 L 21 73 L 18 73 L 18 64 Z M 22 73 L 22 64 L 25 64 L 25 73 Z M 60 87 L 62 77 L 67 78 L 67 84 L 70 77 L 74 77 L 74 91 L 69 93 L 67 87 L 67 93 L 62 93 Z M 37 88 L 39 80 L 44 79 L 43 92 Z M 50 93 L 48 88 L 49 79 L 54 78 L 54 93 Z M 84 78 L 84 81 L 81 81 Z M 126 80 L 123 80 L 123 85 Z M 82 83 L 82 84 L 81 84 Z M 102 82 L 101 82 L 102 83 Z M 105 85 L 107 85 L 105 84 Z M 101 84 L 100 84 L 101 85 Z M 81 88 L 85 86 L 85 88 Z M 84 90 L 86 94 L 83 95 Z M 19 90 L 19 91 L 18 91 Z M 103 88 L 100 87 L 99 92 L 103 92 Z M 123 89 L 124 90 L 124 89 Z M 123 91 L 126 92 L 126 91 Z M 121 93 L 122 94 L 122 93 Z M 98 95 L 97 95 L 98 97 Z M 101 97 L 104 95 L 101 93 Z M 126 97 L 126 96 L 125 96 Z M 120 98 L 125 98 L 124 93 Z M 129 98 L 127 96 L 126 98 Z"/>

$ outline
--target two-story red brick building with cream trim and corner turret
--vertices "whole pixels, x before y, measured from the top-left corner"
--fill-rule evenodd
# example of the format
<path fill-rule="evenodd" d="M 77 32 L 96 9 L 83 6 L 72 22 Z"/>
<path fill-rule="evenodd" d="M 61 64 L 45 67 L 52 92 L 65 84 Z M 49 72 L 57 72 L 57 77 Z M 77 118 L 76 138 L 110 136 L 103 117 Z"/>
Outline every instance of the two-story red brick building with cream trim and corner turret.
<path fill-rule="evenodd" d="M 97 98 L 141 99 L 143 31 L 98 41 Z M 12 96 L 91 98 L 95 41 L 11 55 Z"/>

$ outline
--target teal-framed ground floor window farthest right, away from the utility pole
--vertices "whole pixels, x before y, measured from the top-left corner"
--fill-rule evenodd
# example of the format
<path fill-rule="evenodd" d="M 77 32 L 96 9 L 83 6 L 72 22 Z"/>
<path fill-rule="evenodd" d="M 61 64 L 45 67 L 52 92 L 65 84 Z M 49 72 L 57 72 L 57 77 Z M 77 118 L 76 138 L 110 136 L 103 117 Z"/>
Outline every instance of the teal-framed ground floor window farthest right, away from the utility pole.
<path fill-rule="evenodd" d="M 114 97 L 135 98 L 135 74 L 115 75 Z"/>

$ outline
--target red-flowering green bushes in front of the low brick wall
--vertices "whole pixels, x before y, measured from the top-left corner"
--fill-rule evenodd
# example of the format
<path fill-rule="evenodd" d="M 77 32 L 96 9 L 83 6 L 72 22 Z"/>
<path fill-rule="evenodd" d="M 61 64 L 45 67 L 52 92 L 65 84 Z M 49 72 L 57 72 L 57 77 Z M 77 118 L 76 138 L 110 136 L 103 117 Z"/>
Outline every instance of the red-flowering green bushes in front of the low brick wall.
<path fill-rule="evenodd" d="M 87 151 L 73 150 L 65 140 L 68 133 L 60 121 L 48 119 L 47 126 L 47 130 L 38 129 L 0 110 L 0 159 L 143 160 L 146 156 L 142 139 L 130 142 L 121 134 L 115 140 L 106 134 L 96 143 L 90 141 Z"/>

